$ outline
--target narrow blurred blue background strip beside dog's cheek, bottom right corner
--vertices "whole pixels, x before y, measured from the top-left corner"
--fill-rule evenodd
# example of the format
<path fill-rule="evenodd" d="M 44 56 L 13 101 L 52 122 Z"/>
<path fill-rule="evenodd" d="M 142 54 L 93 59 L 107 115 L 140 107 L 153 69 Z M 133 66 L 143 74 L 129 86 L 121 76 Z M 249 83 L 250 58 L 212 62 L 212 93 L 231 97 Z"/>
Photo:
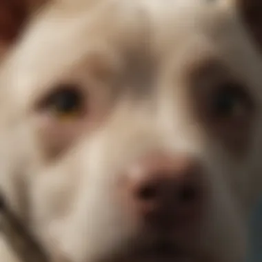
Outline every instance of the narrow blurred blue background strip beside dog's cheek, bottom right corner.
<path fill-rule="evenodd" d="M 262 201 L 250 221 L 250 237 L 252 240 L 248 262 L 262 262 Z"/>

